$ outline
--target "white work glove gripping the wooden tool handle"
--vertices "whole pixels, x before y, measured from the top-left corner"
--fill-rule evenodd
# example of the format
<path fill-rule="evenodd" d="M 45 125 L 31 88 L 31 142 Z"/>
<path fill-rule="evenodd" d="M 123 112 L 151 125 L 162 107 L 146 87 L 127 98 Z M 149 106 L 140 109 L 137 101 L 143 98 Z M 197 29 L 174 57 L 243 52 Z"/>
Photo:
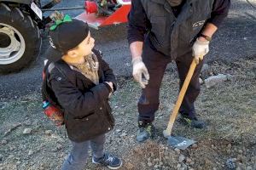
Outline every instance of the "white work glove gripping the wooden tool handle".
<path fill-rule="evenodd" d="M 203 57 L 209 52 L 209 41 L 201 41 L 196 38 L 196 41 L 192 47 L 192 55 L 195 57 L 196 64 L 199 63 L 199 59 L 203 59 Z"/>

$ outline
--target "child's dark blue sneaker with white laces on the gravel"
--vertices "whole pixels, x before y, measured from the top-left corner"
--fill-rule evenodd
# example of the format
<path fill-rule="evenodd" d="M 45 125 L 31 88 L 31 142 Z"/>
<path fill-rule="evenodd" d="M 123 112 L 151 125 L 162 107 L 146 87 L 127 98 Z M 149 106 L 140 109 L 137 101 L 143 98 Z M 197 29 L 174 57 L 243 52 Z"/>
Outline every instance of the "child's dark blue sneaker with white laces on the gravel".
<path fill-rule="evenodd" d="M 107 166 L 109 169 L 118 169 L 122 166 L 121 159 L 108 153 L 105 153 L 104 156 L 101 158 L 95 158 L 94 156 L 92 156 L 92 162 Z"/>

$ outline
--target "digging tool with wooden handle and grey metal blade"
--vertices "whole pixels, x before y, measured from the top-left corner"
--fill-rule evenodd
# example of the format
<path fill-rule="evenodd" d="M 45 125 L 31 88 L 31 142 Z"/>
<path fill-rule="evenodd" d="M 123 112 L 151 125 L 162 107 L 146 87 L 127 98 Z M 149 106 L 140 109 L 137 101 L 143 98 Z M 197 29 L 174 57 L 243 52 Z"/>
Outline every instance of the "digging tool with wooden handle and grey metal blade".
<path fill-rule="evenodd" d="M 202 57 L 201 57 L 201 59 L 202 59 Z M 189 145 L 195 144 L 195 140 L 186 139 L 181 136 L 171 136 L 173 124 L 175 122 L 175 119 L 177 118 L 177 113 L 180 108 L 180 105 L 182 104 L 182 101 L 183 101 L 184 95 L 187 91 L 187 88 L 189 87 L 189 82 L 190 82 L 191 77 L 193 76 L 193 73 L 195 71 L 195 66 L 196 66 L 196 62 L 195 62 L 195 59 L 193 59 L 191 65 L 190 65 L 190 68 L 189 68 L 188 75 L 187 75 L 185 81 L 183 82 L 183 87 L 178 94 L 177 102 L 172 111 L 172 115 L 170 116 L 168 126 L 167 126 L 166 130 L 163 131 L 164 137 L 166 139 L 168 139 L 168 144 L 171 145 L 172 147 L 178 148 L 180 150 L 185 150 L 186 148 L 189 147 Z"/>

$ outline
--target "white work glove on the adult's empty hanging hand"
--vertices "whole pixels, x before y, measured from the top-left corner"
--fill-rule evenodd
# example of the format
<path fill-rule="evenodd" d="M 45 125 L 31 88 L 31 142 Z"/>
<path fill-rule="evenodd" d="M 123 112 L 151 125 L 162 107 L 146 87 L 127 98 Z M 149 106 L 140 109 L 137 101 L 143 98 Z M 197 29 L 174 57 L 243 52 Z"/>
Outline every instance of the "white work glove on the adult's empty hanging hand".
<path fill-rule="evenodd" d="M 149 80 L 149 74 L 146 65 L 143 63 L 142 57 L 132 59 L 131 63 L 133 65 L 133 78 L 140 84 L 142 88 L 146 88 Z"/>

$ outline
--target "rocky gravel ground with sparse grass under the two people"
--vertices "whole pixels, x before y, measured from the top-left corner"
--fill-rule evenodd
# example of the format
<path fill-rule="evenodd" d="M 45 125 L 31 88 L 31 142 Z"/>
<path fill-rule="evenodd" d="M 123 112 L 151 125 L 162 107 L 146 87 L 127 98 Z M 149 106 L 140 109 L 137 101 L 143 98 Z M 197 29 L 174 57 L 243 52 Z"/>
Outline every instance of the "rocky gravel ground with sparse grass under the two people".
<path fill-rule="evenodd" d="M 147 143 L 138 144 L 137 99 L 140 90 L 130 78 L 118 79 L 118 91 L 110 99 L 115 127 L 108 133 L 106 150 L 121 156 L 121 169 L 256 169 L 256 60 L 240 59 L 229 65 L 208 65 L 202 78 L 230 75 L 202 92 L 195 108 L 208 124 L 207 130 L 184 127 L 176 122 L 175 135 L 197 141 L 187 150 L 168 146 L 162 136 L 177 97 L 177 73 L 167 71 L 160 94 L 160 110 L 155 117 L 156 135 Z M 172 88 L 170 88 L 172 87 Z M 27 94 L 0 102 L 0 170 L 60 169 L 70 150 L 63 127 L 57 128 L 44 116 L 40 94 Z M 91 155 L 91 154 L 90 154 Z M 107 169 L 95 166 L 88 159 L 84 169 Z M 229 168 L 230 167 L 230 168 Z M 234 168 L 233 168 L 234 169 Z"/>

